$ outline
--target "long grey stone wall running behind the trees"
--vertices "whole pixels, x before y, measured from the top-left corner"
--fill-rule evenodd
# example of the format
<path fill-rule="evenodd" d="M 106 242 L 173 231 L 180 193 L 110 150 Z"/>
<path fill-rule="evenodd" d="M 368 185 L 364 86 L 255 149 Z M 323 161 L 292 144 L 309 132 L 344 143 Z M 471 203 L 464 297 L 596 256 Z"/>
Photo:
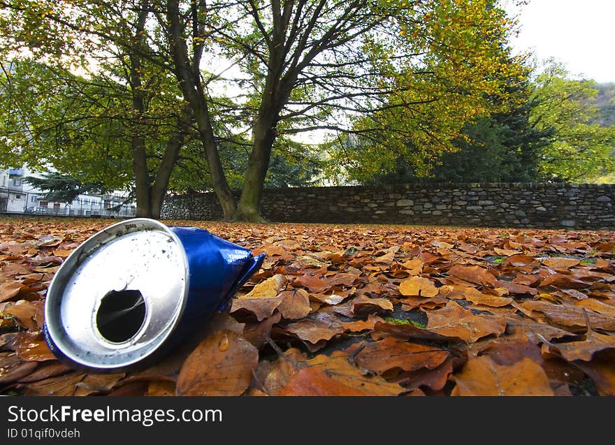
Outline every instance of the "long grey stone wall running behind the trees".
<path fill-rule="evenodd" d="M 395 184 L 266 189 L 270 221 L 615 229 L 614 184 Z M 215 194 L 168 196 L 164 219 L 222 218 Z"/>

